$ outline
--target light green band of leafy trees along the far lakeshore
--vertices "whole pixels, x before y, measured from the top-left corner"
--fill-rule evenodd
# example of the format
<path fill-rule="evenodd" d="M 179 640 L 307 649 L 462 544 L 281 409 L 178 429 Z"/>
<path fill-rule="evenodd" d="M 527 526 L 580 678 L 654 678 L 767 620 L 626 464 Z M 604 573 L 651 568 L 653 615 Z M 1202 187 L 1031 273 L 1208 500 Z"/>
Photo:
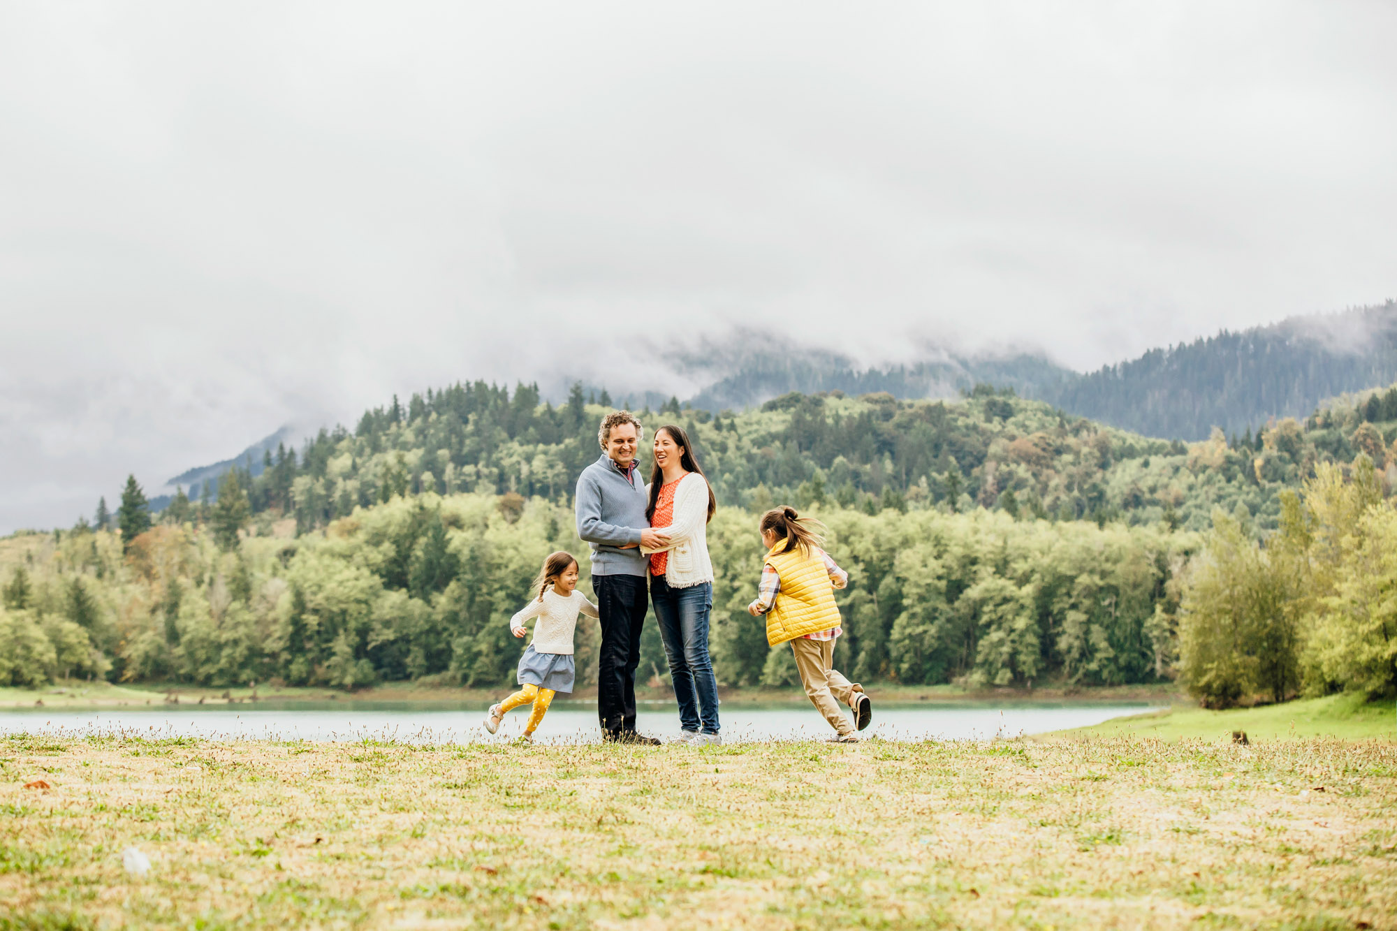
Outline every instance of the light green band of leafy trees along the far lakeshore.
<path fill-rule="evenodd" d="M 1172 580 L 1190 534 L 985 509 L 820 513 L 851 572 L 841 649 L 859 678 L 1028 686 L 1168 675 Z M 715 665 L 726 685 L 791 685 L 789 650 L 768 650 L 745 609 L 761 565 L 754 520 L 724 506 L 710 528 Z M 244 534 L 231 547 L 196 523 L 131 540 L 94 530 L 25 541 L 0 611 L 0 682 L 20 685 L 504 686 L 521 649 L 507 621 L 539 562 L 559 548 L 584 554 L 571 512 L 545 498 L 434 492 L 394 495 L 324 533 Z M 584 618 L 577 639 L 587 684 L 595 622 Z M 654 623 L 641 664 L 664 679 Z"/>

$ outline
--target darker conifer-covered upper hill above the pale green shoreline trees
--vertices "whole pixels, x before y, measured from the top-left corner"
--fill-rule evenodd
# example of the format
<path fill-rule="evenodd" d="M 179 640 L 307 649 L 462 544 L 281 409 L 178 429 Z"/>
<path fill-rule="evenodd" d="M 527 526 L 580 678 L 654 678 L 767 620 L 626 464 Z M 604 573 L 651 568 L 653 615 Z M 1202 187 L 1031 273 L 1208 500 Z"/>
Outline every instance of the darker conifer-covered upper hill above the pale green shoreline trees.
<path fill-rule="evenodd" d="M 592 401 L 580 386 L 562 407 L 539 404 L 534 386 L 427 390 L 407 405 L 394 398 L 366 411 L 353 431 L 323 429 L 299 450 L 265 450 L 257 474 L 244 464 L 229 475 L 251 514 L 295 517 L 300 533 L 394 495 L 515 492 L 566 503 L 577 474 L 598 456 L 595 424 L 606 408 Z M 950 510 L 981 505 L 1203 528 L 1215 505 L 1243 505 L 1264 527 L 1278 513 L 1275 491 L 1298 484 L 1316 463 L 1348 463 L 1362 449 L 1386 467 L 1391 436 L 1382 431 L 1393 428 L 1368 421 L 1397 419 L 1397 394 L 1256 435 L 1214 432 L 1192 446 L 1074 418 L 989 386 L 956 401 L 792 393 L 742 414 L 672 404 L 641 418 L 651 429 L 685 426 L 719 498 L 743 507 L 775 499 L 831 499 L 869 512 L 908 502 Z M 172 519 L 187 519 L 191 507 L 176 498 Z"/>

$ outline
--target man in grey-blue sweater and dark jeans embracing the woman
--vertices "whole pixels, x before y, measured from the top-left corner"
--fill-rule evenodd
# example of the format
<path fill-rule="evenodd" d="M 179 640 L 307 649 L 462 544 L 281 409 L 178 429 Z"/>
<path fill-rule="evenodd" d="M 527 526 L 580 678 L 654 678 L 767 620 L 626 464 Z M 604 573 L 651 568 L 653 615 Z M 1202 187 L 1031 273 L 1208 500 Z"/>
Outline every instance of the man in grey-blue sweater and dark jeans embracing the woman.
<path fill-rule="evenodd" d="M 640 547 L 659 548 L 668 534 L 650 528 L 645 479 L 636 463 L 644 431 L 630 411 L 602 419 L 602 456 L 577 479 L 577 535 L 592 548 L 592 589 L 601 609 L 602 649 L 597 716 L 602 739 L 659 744 L 636 732 L 636 667 L 648 607 L 647 566 Z"/>

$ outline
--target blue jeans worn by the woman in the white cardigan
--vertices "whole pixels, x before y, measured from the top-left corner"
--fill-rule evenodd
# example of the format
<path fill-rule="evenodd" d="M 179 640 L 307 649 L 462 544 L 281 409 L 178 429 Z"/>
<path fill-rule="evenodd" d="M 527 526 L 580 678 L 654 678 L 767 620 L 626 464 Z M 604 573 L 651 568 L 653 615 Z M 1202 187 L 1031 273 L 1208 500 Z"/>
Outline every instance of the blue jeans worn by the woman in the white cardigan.
<path fill-rule="evenodd" d="M 679 724 L 686 731 L 718 732 L 718 679 L 708 658 L 708 615 L 712 583 L 671 589 L 664 576 L 650 577 L 659 636 L 669 657 L 669 679 L 679 702 Z M 703 709 L 700 712 L 700 709 Z"/>

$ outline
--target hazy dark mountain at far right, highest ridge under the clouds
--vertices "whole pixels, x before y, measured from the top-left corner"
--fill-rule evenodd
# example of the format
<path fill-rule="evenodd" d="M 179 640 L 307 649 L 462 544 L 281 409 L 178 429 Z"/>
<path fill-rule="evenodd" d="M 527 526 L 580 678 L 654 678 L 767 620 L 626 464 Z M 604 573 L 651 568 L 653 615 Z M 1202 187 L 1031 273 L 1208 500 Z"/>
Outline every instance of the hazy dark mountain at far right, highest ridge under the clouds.
<path fill-rule="evenodd" d="M 1292 317 L 1151 349 L 1030 390 L 1081 417 L 1147 436 L 1203 439 L 1305 417 L 1327 397 L 1397 379 L 1397 302 Z"/>

